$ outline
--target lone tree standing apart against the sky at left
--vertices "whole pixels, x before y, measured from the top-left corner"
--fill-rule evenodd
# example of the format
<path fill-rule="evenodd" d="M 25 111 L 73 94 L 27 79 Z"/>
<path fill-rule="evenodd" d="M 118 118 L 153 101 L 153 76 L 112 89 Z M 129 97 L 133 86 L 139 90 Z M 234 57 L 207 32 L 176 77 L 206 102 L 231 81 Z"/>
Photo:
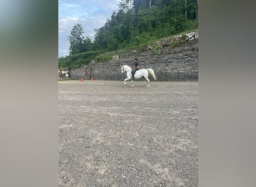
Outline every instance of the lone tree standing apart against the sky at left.
<path fill-rule="evenodd" d="M 77 54 L 79 52 L 83 52 L 83 33 L 84 28 L 82 28 L 82 25 L 76 24 L 73 26 L 71 30 L 70 37 L 68 37 L 68 40 L 70 41 L 70 55 Z"/>

